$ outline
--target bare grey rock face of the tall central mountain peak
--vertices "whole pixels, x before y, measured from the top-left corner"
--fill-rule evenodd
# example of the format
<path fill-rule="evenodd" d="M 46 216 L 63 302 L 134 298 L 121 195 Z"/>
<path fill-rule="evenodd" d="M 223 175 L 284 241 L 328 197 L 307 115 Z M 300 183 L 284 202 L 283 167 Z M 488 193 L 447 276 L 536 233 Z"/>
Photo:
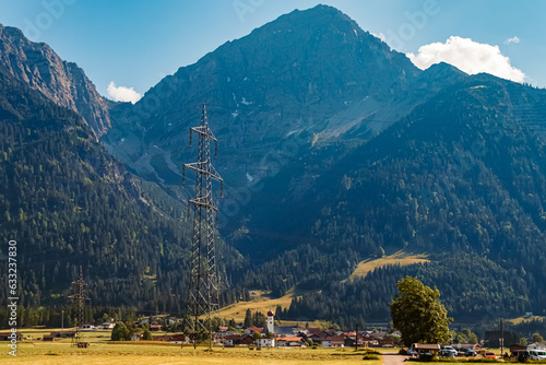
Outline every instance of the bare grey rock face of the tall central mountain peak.
<path fill-rule="evenodd" d="M 372 136 L 407 114 L 422 71 L 339 10 L 294 11 L 180 68 L 134 106 L 111 110 L 108 150 L 143 176 L 167 179 L 188 161 L 188 127 L 206 103 L 228 181 L 272 168 L 281 141 Z M 300 145 L 302 146 L 302 145 Z M 162 173 L 163 172 L 163 173 Z"/>

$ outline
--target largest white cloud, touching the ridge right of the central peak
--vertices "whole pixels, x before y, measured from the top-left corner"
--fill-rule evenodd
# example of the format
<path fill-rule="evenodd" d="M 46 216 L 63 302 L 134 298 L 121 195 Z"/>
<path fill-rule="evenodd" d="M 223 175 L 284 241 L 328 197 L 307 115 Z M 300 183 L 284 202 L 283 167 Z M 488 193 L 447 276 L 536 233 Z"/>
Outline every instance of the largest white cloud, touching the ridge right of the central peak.
<path fill-rule="evenodd" d="M 406 56 L 422 70 L 443 61 L 468 74 L 487 72 L 515 82 L 523 82 L 526 78 L 521 70 L 510 64 L 510 58 L 502 56 L 499 46 L 470 38 L 451 36 L 446 43 L 431 43 L 420 47 L 417 55 Z"/>

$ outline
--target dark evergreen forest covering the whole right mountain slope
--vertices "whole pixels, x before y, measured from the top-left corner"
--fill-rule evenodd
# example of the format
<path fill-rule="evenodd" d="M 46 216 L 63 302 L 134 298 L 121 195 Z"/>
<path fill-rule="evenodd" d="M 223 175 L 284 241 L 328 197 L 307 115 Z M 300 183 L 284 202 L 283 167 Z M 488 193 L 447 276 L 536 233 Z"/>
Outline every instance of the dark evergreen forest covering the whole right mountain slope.
<path fill-rule="evenodd" d="M 287 319 L 387 319 L 406 274 L 437 285 L 456 319 L 544 314 L 545 105 L 544 91 L 478 75 L 360 146 L 306 151 L 264 182 L 248 236 L 233 240 L 258 260 L 286 249 L 247 284 L 311 291 Z M 266 212 L 266 199 L 283 203 Z M 271 244 L 253 247 L 258 237 Z M 358 261 L 400 249 L 432 262 L 344 281 Z"/>

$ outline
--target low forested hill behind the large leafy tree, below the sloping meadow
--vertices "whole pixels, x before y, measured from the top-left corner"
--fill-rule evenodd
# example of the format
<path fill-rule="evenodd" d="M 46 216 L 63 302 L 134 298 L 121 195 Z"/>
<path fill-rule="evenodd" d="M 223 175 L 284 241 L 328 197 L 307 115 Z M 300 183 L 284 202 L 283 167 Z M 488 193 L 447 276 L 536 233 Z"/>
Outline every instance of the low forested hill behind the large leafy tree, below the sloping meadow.
<path fill-rule="evenodd" d="M 320 292 L 304 294 L 282 311 L 283 319 L 324 318 L 342 328 L 369 320 L 390 321 L 389 303 L 400 279 L 411 275 L 437 286 L 450 316 L 487 321 L 524 313 L 529 307 L 529 276 L 515 269 L 468 254 L 438 255 L 432 262 L 388 266 L 365 278 L 333 282 Z"/>

